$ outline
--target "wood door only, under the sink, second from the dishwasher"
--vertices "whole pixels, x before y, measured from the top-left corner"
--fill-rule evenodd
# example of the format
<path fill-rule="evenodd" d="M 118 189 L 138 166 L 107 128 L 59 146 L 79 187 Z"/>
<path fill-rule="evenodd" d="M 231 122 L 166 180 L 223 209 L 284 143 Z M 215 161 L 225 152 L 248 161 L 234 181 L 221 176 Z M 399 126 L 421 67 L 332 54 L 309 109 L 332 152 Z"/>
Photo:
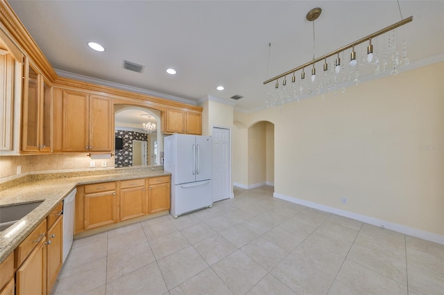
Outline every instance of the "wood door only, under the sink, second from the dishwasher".
<path fill-rule="evenodd" d="M 40 240 L 37 247 L 17 269 L 15 294 L 46 294 L 46 238 Z"/>

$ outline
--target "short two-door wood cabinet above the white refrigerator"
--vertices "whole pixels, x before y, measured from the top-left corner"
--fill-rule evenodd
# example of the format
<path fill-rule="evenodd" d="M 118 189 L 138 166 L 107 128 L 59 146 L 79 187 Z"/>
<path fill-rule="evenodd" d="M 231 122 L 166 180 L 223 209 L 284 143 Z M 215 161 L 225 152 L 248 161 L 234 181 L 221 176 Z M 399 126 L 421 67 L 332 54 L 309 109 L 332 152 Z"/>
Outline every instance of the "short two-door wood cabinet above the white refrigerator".
<path fill-rule="evenodd" d="M 162 112 L 162 133 L 202 134 L 202 114 L 180 109 Z"/>

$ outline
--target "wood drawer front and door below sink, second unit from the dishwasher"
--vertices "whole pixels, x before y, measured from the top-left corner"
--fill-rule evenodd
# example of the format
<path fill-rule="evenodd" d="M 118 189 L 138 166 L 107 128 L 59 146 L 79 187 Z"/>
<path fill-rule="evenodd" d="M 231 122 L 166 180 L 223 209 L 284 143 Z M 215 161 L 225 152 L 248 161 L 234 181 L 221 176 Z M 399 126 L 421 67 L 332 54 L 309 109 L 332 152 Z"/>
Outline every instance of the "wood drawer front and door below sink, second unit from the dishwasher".
<path fill-rule="evenodd" d="M 15 249 L 15 294 L 46 294 L 46 220 Z"/>

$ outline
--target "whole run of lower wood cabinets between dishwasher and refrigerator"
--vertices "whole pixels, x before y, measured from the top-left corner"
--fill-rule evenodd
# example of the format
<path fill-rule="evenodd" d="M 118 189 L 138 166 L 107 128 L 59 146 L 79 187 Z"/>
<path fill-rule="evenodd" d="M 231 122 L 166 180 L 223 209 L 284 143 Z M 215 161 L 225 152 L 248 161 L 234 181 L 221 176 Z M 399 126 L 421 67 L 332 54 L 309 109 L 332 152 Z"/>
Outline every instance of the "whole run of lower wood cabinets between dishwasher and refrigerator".
<path fill-rule="evenodd" d="M 74 233 L 169 210 L 170 184 L 167 175 L 78 186 Z"/>

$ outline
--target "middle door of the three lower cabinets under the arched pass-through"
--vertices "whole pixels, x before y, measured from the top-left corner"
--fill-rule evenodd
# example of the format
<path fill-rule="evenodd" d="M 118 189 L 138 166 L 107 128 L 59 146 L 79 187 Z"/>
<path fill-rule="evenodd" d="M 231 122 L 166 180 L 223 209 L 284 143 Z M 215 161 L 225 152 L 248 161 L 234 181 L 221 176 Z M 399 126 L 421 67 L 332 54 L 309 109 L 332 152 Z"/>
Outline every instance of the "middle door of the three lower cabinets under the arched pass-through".
<path fill-rule="evenodd" d="M 144 215 L 145 193 L 146 189 L 144 187 L 120 190 L 121 221 Z"/>

